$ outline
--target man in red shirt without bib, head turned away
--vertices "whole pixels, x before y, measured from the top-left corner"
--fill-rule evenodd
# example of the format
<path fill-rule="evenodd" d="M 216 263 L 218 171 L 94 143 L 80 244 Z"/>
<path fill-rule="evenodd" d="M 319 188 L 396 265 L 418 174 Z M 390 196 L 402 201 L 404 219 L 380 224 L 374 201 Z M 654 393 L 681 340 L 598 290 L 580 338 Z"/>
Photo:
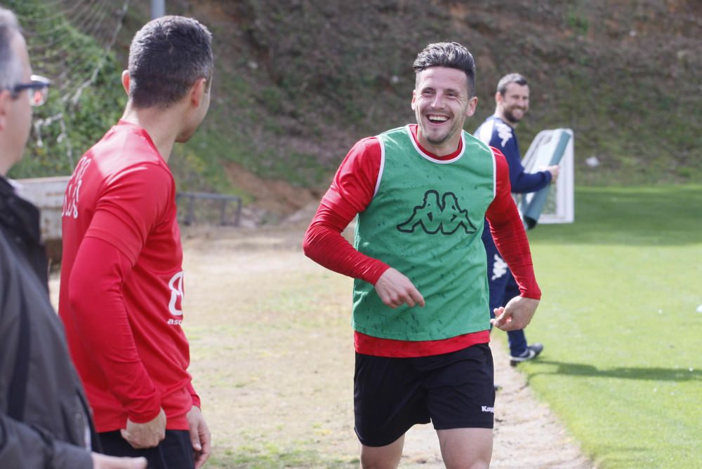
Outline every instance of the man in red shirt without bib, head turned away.
<path fill-rule="evenodd" d="M 134 36 L 124 115 L 78 162 L 63 205 L 59 313 L 106 454 L 199 468 L 210 434 L 183 322 L 174 142 L 210 103 L 211 34 L 165 16 Z"/>

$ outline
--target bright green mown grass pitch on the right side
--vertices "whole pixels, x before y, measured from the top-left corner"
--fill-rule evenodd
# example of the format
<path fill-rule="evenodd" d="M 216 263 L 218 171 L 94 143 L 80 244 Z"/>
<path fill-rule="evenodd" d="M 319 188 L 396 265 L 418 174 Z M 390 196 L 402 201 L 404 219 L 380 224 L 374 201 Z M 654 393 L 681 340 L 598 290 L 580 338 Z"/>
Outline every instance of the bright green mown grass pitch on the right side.
<path fill-rule="evenodd" d="M 580 188 L 529 238 L 530 385 L 602 468 L 701 468 L 702 186 Z"/>

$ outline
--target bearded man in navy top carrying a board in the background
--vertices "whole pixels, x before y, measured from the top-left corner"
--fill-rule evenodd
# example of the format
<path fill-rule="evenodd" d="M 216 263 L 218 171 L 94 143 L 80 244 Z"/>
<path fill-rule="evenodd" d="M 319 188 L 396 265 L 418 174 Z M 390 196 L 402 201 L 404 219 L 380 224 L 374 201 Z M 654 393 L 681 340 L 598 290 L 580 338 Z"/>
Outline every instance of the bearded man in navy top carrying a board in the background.
<path fill-rule="evenodd" d="M 522 166 L 515 127 L 529 110 L 529 84 L 527 80 L 519 74 L 503 76 L 497 84 L 495 103 L 495 114 L 486 118 L 485 122 L 475 131 L 475 136 L 491 147 L 502 151 L 507 158 L 512 193 L 536 192 L 555 182 L 559 170 L 557 165 L 548 166 L 543 168 L 543 171 L 533 173 L 524 172 L 524 166 Z M 510 299 L 519 295 L 519 287 L 495 246 L 487 222 L 485 222 L 482 239 L 487 253 L 490 315 L 494 317 L 494 309 L 505 306 Z M 531 360 L 543 350 L 541 344 L 527 345 L 527 337 L 524 335 L 523 329 L 509 331 L 508 339 L 512 365 Z"/>

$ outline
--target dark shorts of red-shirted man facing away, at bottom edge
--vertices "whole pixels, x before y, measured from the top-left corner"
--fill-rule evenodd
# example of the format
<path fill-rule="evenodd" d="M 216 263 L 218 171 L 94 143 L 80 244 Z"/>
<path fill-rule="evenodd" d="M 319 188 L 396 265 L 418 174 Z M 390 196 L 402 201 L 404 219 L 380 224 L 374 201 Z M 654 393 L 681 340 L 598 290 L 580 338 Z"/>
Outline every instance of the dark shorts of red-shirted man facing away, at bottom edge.
<path fill-rule="evenodd" d="M 110 456 L 128 456 L 147 460 L 148 469 L 194 469 L 195 457 L 192 452 L 190 432 L 187 430 L 166 430 L 166 438 L 155 448 L 134 449 L 119 431 L 98 433 L 102 453 Z"/>

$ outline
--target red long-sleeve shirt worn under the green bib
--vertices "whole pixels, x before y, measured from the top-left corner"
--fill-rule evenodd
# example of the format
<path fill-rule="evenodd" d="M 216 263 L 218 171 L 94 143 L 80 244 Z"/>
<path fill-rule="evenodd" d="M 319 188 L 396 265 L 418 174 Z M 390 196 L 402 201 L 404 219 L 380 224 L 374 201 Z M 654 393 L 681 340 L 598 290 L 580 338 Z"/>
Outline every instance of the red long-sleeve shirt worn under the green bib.
<path fill-rule="evenodd" d="M 461 152 L 462 147 L 459 143 L 452 154 L 431 154 L 418 142 L 417 126 L 411 125 L 410 128 L 415 143 L 432 158 L 449 160 Z M 534 277 L 527 234 L 510 194 L 509 168 L 500 151 L 494 148 L 492 150 L 496 161 L 496 189 L 495 198 L 486 211 L 486 217 L 498 250 L 510 266 L 522 297 L 540 299 L 541 290 Z M 327 269 L 360 278 L 373 285 L 390 266 L 355 250 L 341 236 L 341 232 L 373 200 L 380 172 L 380 160 L 380 142 L 376 137 L 368 137 L 355 144 L 338 168 L 303 240 L 303 249 L 310 259 Z M 449 353 L 474 344 L 484 344 L 489 341 L 489 331 L 463 334 L 438 341 L 398 341 L 355 332 L 354 341 L 358 353 L 417 357 Z"/>

